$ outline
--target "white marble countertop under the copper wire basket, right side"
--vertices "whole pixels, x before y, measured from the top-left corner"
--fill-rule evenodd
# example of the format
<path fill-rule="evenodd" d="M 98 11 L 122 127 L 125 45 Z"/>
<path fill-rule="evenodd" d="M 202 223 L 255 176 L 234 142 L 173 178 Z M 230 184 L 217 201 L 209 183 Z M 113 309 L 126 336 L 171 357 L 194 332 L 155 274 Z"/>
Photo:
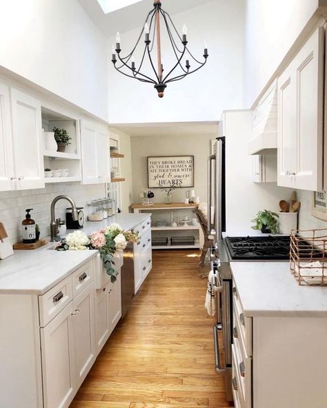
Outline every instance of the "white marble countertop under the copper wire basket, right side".
<path fill-rule="evenodd" d="M 327 317 L 327 287 L 299 286 L 289 262 L 231 262 L 244 316 Z"/>

